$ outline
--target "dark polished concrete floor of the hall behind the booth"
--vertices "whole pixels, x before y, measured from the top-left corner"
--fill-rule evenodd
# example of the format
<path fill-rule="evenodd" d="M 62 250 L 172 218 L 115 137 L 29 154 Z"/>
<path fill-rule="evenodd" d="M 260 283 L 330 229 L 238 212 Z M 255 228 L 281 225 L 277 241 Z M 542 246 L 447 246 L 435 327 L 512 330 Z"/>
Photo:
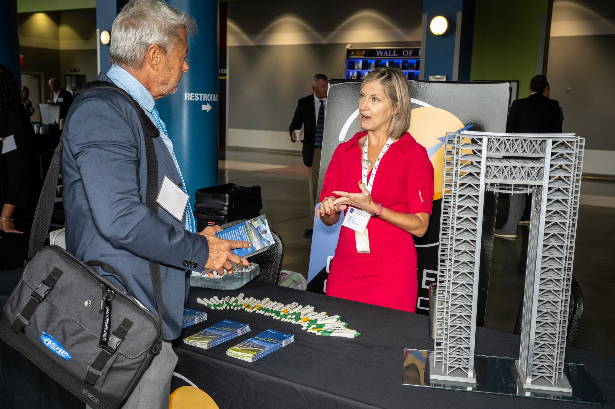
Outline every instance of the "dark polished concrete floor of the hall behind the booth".
<path fill-rule="evenodd" d="M 263 151 L 226 150 L 221 152 L 220 183 L 260 185 L 263 210 L 271 228 L 284 240 L 282 269 L 307 276 L 311 239 L 303 229 L 312 227 L 306 168 L 299 155 Z M 243 164 L 242 164 L 243 163 Z M 251 170 L 250 164 L 263 164 Z M 280 167 L 282 166 L 282 167 Z M 230 168 L 230 169 L 229 169 Z M 242 170 L 245 169 L 245 170 Z M 612 182 L 584 180 L 582 193 L 615 196 Z M 506 221 L 508 199 L 502 197 L 498 223 Z M 615 208 L 581 206 L 574 258 L 574 277 L 585 296 L 584 311 L 573 346 L 615 356 Z M 519 227 L 515 241 L 494 240 L 485 327 L 512 332 L 517 319 L 525 281 L 527 227 Z"/>

